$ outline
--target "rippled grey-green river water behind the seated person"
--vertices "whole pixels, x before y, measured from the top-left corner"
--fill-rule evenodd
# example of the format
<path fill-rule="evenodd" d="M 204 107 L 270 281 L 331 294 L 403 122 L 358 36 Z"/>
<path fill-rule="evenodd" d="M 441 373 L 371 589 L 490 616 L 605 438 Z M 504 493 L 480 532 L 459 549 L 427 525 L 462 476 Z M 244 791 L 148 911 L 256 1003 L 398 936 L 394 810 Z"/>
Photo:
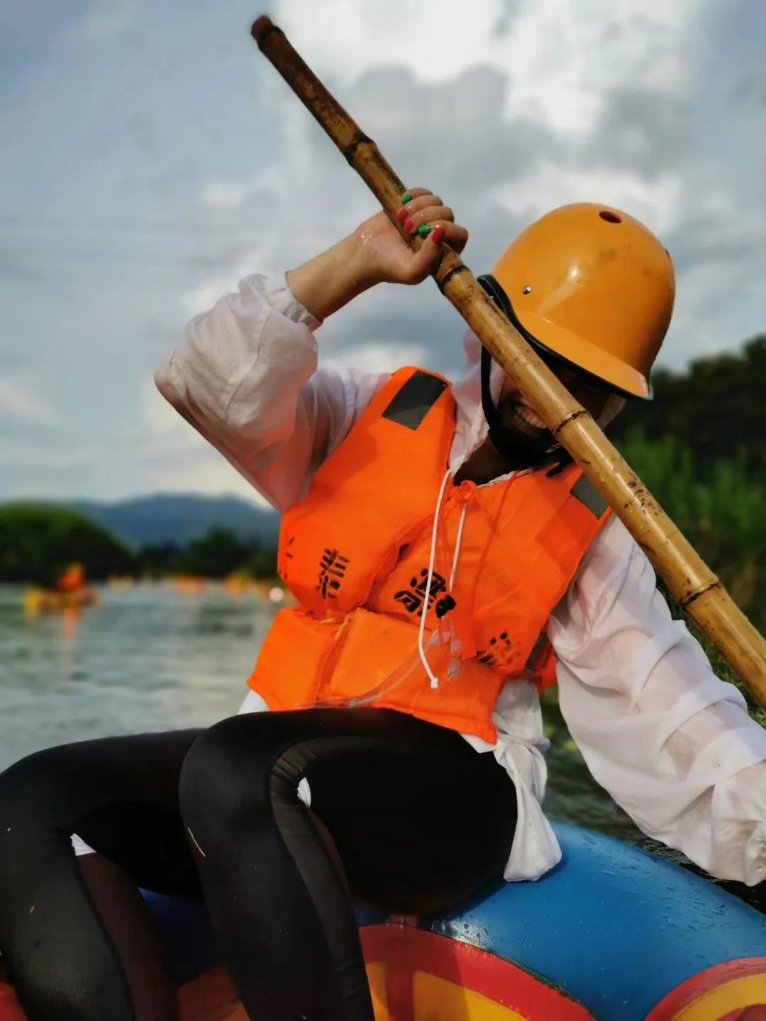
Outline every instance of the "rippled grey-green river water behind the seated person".
<path fill-rule="evenodd" d="M 105 587 L 96 605 L 64 616 L 30 616 L 22 595 L 0 585 L 0 770 L 53 744 L 233 715 L 275 613 L 222 585 L 202 594 L 161 583 Z M 547 814 L 647 846 L 590 778 L 555 707 L 545 724 Z"/>

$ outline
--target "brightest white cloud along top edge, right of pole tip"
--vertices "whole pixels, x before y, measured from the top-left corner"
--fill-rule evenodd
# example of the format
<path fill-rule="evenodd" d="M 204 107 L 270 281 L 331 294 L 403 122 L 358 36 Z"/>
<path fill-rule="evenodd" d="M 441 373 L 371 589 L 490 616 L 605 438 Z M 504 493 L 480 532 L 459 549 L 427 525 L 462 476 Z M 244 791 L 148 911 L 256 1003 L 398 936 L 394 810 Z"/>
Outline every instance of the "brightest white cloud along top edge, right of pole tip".
<path fill-rule="evenodd" d="M 651 76 L 655 89 L 685 90 L 687 42 L 705 10 L 704 0 L 519 0 L 508 31 L 497 33 L 504 6 L 484 0 L 469 12 L 462 0 L 280 0 L 275 20 L 321 77 L 349 85 L 372 66 L 394 63 L 437 82 L 490 64 L 512 77 L 511 115 L 535 114 L 558 130 L 580 132 L 616 84 Z M 398 112 L 405 120 L 406 108 Z"/>

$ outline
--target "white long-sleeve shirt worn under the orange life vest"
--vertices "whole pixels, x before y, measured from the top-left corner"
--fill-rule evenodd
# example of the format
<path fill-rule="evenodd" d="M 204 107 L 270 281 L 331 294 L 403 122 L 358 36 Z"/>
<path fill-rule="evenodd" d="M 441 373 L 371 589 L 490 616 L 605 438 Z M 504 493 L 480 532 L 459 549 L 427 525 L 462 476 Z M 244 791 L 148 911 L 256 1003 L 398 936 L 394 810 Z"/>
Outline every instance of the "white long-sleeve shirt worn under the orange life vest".
<path fill-rule="evenodd" d="M 279 510 L 305 495 L 388 379 L 318 369 L 319 326 L 286 284 L 247 277 L 190 323 L 156 375 L 166 399 Z M 487 432 L 478 342 L 469 334 L 465 346 L 467 371 L 453 388 L 453 471 Z M 495 371 L 495 391 L 499 382 Z M 591 544 L 548 636 L 564 718 L 617 804 L 644 833 L 713 875 L 751 885 L 766 877 L 766 731 L 671 619 L 649 561 L 617 518 Z M 254 709 L 266 706 L 251 692 L 243 710 Z M 506 878 L 534 879 L 561 852 L 540 807 L 548 742 L 532 685 L 506 684 L 493 722 L 495 745 L 467 740 L 491 750 L 516 786 Z"/>

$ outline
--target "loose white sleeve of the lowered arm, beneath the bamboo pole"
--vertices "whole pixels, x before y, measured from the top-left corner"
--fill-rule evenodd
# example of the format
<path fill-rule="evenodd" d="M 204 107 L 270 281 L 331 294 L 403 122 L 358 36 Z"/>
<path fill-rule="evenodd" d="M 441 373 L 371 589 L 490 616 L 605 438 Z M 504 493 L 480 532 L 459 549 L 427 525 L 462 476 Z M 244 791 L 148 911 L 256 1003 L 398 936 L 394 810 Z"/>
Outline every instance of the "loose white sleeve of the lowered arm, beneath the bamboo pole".
<path fill-rule="evenodd" d="M 604 528 L 548 635 L 596 781 L 649 836 L 721 879 L 766 878 L 766 730 L 713 673 L 624 525 Z"/>

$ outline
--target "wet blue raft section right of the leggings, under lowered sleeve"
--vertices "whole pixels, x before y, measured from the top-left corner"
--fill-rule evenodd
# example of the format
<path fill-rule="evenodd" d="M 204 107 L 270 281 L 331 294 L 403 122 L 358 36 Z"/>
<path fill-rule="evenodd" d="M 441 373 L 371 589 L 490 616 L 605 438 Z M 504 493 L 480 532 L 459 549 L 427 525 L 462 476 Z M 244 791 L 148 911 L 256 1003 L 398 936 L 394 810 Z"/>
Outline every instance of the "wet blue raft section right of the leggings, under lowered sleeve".
<path fill-rule="evenodd" d="M 640 1021 L 680 982 L 766 955 L 763 915 L 708 880 L 557 824 L 562 864 L 423 928 L 545 977 L 600 1021 Z"/>

